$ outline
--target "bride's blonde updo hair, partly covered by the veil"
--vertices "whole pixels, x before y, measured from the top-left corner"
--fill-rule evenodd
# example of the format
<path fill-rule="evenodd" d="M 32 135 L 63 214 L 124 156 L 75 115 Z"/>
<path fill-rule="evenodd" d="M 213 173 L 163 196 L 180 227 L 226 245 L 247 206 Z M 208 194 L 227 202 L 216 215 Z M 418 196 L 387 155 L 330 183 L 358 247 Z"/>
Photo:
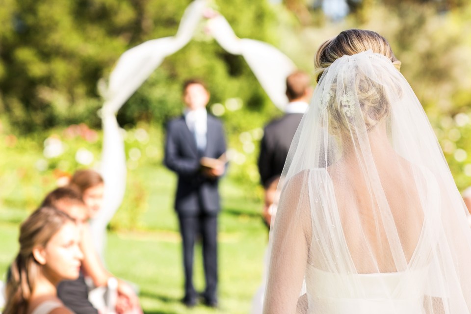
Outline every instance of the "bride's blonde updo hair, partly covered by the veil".
<path fill-rule="evenodd" d="M 314 66 L 319 81 L 324 71 L 334 63 L 335 60 L 345 55 L 354 55 L 360 52 L 371 50 L 379 53 L 391 60 L 392 64 L 399 69 L 400 61 L 394 56 L 388 41 L 380 34 L 363 29 L 348 29 L 342 31 L 337 37 L 325 41 L 318 49 Z M 373 129 L 380 121 L 390 113 L 390 101 L 385 98 L 384 88 L 377 82 L 365 77 L 359 71 L 355 78 L 357 99 L 361 107 L 362 120 L 365 123 L 366 131 Z M 337 90 L 337 81 L 333 81 L 330 86 L 324 86 L 324 92 L 328 90 L 329 94 L 335 95 Z M 342 83 L 343 85 L 343 83 Z M 395 85 L 395 84 L 393 84 Z M 393 86 L 396 89 L 398 86 Z M 400 94 L 400 90 L 396 90 Z M 336 99 L 334 97 L 334 99 Z M 338 98 L 337 98 L 338 99 Z M 345 104 L 331 101 L 328 106 L 329 111 L 329 129 L 331 133 L 340 135 L 339 132 L 351 132 L 354 123 L 354 117 L 345 115 Z"/>

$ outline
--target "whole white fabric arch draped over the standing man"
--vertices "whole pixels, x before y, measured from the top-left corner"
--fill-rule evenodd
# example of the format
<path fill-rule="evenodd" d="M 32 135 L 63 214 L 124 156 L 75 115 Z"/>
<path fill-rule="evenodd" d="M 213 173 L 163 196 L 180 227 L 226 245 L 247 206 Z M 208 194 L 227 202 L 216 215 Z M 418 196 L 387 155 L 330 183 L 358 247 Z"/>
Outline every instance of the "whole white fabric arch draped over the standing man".
<path fill-rule="evenodd" d="M 100 169 L 105 180 L 105 201 L 91 227 L 101 254 L 106 225 L 121 205 L 126 188 L 126 156 L 116 113 L 166 56 L 179 51 L 191 40 L 202 19 L 206 19 L 206 28 L 223 49 L 244 57 L 270 100 L 280 109 L 287 104 L 285 80 L 295 69 L 294 63 L 271 45 L 238 38 L 227 20 L 208 7 L 207 0 L 194 0 L 188 5 L 175 36 L 149 40 L 124 52 L 107 86 L 104 82 L 100 84 L 105 99 L 101 109 L 104 139 Z"/>

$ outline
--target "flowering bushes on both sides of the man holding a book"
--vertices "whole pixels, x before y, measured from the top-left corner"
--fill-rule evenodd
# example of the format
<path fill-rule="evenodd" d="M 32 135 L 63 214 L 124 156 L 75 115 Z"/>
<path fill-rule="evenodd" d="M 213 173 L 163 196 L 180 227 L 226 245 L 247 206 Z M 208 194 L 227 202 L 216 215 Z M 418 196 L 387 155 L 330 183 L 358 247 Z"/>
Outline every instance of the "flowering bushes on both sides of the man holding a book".
<path fill-rule="evenodd" d="M 227 114 L 220 116 L 222 120 L 228 120 L 230 116 L 230 121 L 224 121 L 230 159 L 227 176 L 241 183 L 247 197 L 258 199 L 262 196 L 262 188 L 256 161 L 263 121 L 259 113 L 247 114 L 240 110 L 241 104 L 237 102 L 226 102 Z M 127 189 L 110 227 L 133 229 L 139 228 L 139 217 L 147 210 L 148 194 L 152 193 L 146 190 L 145 179 L 139 170 L 162 166 L 165 134 L 161 128 L 147 124 L 125 127 L 122 132 L 128 169 Z M 0 127 L 0 150 L 6 152 L 5 158 L 0 158 L 0 206 L 33 210 L 47 192 L 67 184 L 77 169 L 99 170 L 102 137 L 101 131 L 92 130 L 86 124 L 21 137 Z"/>

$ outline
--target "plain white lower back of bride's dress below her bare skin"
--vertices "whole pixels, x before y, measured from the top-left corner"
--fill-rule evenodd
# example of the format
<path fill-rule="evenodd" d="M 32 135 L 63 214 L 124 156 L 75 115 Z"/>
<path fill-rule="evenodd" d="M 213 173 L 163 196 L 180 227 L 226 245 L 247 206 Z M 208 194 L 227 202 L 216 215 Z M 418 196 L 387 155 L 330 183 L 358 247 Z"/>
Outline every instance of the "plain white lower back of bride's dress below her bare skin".
<path fill-rule="evenodd" d="M 312 314 L 422 314 L 428 268 L 396 273 L 337 275 L 309 266 L 306 286 Z M 341 278 L 340 278 L 341 277 Z M 338 289 L 345 281 L 356 282 L 362 293 Z M 409 286 L 401 287 L 408 281 Z M 412 282 L 411 282 L 412 281 Z M 417 287 L 423 287 L 418 289 Z"/>

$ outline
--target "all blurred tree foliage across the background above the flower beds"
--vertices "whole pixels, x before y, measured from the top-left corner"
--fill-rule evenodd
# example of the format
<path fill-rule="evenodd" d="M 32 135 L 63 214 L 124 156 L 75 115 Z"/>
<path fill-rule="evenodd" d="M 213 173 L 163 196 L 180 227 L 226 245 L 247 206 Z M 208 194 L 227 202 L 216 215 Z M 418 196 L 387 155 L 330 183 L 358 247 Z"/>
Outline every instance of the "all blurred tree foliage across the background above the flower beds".
<path fill-rule="evenodd" d="M 456 150 L 469 150 L 464 146 L 469 128 L 443 119 L 468 114 L 471 105 L 469 1 L 349 0 L 350 14 L 337 22 L 323 16 L 320 7 L 308 6 L 308 1 L 283 2 L 274 5 L 267 0 L 214 0 L 211 5 L 226 17 L 237 36 L 273 44 L 308 71 L 313 68 L 319 45 L 343 29 L 366 28 L 384 35 L 402 61 L 402 74 L 411 83 L 441 143 L 445 143 L 445 157 L 452 170 L 463 173 L 468 167 L 469 176 L 460 177 L 460 184 L 471 182 L 471 159 L 463 159 L 462 153 L 458 159 L 455 157 Z M 146 40 L 174 36 L 189 3 L 2 0 L 0 118 L 8 120 L 15 132 L 84 121 L 98 128 L 96 112 L 102 99 L 97 81 L 109 75 L 126 50 Z M 222 119 L 231 146 L 239 152 L 250 152 L 246 152 L 245 165 L 240 169 L 234 166 L 234 171 L 240 170 L 241 178 L 248 176 L 257 182 L 257 151 L 252 144 L 257 147 L 259 135 L 254 134 L 259 134 L 260 128 L 280 112 L 270 104 L 243 58 L 225 52 L 203 26 L 137 90 L 119 111 L 119 122 L 123 126 L 138 122 L 163 126 L 181 112 L 181 84 L 193 77 L 207 81 L 210 110 L 234 99 L 243 104 L 239 111 L 228 110 Z M 462 133 L 459 138 L 456 130 Z M 449 131 L 454 135 L 448 136 Z M 252 146 L 239 140 L 242 133 L 243 138 L 253 139 Z"/>

